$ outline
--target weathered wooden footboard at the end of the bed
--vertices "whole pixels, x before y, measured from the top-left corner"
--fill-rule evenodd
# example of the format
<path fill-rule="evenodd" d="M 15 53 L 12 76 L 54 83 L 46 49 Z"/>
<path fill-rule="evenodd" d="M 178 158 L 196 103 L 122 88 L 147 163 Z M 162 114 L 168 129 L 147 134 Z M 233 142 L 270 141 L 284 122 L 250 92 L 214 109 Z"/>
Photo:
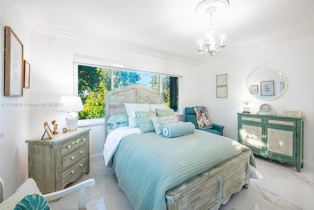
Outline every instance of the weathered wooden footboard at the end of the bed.
<path fill-rule="evenodd" d="M 250 182 L 250 151 L 230 158 L 166 192 L 168 210 L 218 210 Z"/>

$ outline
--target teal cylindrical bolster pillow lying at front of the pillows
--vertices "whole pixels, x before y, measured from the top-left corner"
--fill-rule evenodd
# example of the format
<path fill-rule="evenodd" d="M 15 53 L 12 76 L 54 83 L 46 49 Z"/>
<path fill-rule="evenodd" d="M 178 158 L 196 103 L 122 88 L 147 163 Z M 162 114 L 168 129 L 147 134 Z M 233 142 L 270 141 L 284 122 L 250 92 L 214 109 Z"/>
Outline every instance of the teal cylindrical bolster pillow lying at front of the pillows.
<path fill-rule="evenodd" d="M 162 134 L 166 138 L 188 135 L 194 133 L 195 125 L 192 122 L 168 124 L 163 127 Z"/>

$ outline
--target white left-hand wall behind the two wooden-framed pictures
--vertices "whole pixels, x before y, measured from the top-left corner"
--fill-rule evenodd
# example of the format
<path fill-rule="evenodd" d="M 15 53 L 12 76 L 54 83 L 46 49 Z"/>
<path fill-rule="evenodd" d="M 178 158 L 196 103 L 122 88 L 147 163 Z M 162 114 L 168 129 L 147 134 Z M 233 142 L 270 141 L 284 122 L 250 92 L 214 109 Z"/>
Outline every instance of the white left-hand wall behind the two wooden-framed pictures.
<path fill-rule="evenodd" d="M 3 96 L 4 89 L 4 27 L 9 26 L 24 44 L 24 59 L 30 60 L 30 33 L 16 2 L 0 1 L 0 177 L 5 181 L 5 196 L 28 176 L 27 144 L 30 137 L 29 107 L 12 107 L 12 103 L 28 103 L 30 90 L 24 89 L 23 97 Z M 20 173 L 19 173 L 20 172 Z M 20 176 L 19 176 L 20 174 Z"/>

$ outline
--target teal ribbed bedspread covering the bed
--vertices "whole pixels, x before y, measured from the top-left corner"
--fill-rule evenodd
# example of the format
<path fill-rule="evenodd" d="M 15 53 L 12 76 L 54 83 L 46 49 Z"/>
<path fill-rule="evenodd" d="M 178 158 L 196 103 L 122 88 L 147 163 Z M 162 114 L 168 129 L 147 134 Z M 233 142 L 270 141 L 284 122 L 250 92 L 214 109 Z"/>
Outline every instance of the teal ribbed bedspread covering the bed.
<path fill-rule="evenodd" d="M 165 193 L 248 147 L 230 138 L 195 130 L 165 138 L 155 132 L 124 137 L 113 155 L 119 186 L 135 210 L 165 210 Z M 253 153 L 251 165 L 255 166 Z"/>

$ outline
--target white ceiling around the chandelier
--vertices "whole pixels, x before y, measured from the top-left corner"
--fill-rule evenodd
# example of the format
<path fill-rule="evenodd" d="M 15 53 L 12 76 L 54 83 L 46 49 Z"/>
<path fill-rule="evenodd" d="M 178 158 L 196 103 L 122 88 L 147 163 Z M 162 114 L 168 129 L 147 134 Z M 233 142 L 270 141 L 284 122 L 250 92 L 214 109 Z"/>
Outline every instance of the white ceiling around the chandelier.
<path fill-rule="evenodd" d="M 214 57 L 201 56 L 198 40 L 206 37 L 209 19 L 195 15 L 200 2 L 22 0 L 17 4 L 30 30 L 92 38 L 194 63 L 313 33 L 313 0 L 229 0 L 229 8 L 212 17 L 214 38 L 223 32 L 227 47 Z"/>

